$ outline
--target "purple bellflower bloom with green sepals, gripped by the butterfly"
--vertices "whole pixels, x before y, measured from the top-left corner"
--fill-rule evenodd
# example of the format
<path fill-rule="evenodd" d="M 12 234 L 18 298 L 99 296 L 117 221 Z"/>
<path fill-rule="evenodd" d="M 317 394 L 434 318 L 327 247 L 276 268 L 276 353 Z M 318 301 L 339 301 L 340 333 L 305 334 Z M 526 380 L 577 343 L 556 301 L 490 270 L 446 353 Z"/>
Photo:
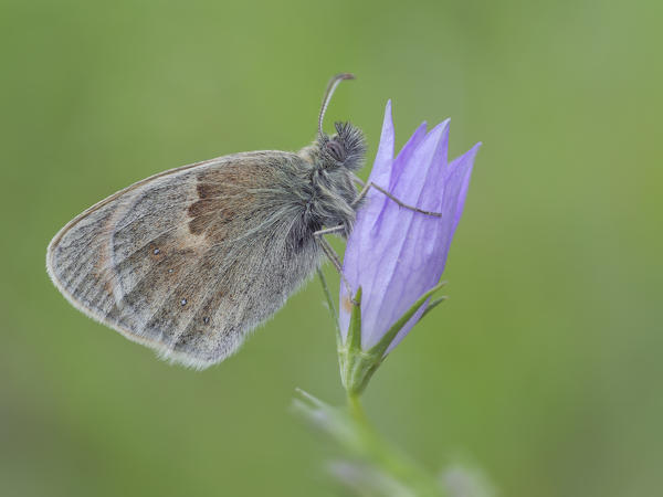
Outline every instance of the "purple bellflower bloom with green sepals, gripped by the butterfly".
<path fill-rule="evenodd" d="M 441 299 L 446 255 L 461 219 L 476 144 L 448 162 L 449 119 L 427 133 L 423 123 L 393 158 L 391 102 L 369 182 L 401 202 L 440 213 L 403 208 L 371 188 L 348 239 L 340 285 L 339 361 L 348 393 L 358 394 L 383 358 Z"/>

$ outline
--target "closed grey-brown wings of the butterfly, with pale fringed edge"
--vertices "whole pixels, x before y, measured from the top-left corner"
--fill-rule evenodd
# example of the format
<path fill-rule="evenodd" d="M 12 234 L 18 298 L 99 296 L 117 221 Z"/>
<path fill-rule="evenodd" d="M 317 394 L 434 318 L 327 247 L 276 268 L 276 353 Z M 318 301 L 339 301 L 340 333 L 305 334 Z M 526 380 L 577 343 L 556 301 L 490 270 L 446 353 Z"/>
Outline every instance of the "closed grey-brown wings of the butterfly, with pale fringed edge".
<path fill-rule="evenodd" d="M 319 264 L 297 198 L 305 169 L 265 151 L 148 178 L 65 225 L 49 274 L 76 308 L 161 357 L 219 362 Z"/>

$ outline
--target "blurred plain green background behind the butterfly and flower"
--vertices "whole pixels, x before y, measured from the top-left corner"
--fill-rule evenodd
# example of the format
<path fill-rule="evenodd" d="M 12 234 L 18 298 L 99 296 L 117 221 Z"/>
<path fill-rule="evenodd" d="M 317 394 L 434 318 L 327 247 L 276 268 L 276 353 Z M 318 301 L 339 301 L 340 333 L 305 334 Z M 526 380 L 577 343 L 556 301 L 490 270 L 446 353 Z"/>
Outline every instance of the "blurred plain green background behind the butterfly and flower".
<path fill-rule="evenodd" d="M 136 180 L 306 145 L 341 71 L 358 80 L 328 123 L 362 127 L 369 163 L 388 98 L 397 145 L 448 116 L 452 156 L 484 142 L 451 299 L 376 374 L 369 415 L 504 496 L 660 495 L 662 6 L 2 0 L 0 495 L 343 495 L 336 447 L 288 411 L 295 387 L 344 402 L 316 281 L 194 372 L 44 271 L 65 222 Z"/>

